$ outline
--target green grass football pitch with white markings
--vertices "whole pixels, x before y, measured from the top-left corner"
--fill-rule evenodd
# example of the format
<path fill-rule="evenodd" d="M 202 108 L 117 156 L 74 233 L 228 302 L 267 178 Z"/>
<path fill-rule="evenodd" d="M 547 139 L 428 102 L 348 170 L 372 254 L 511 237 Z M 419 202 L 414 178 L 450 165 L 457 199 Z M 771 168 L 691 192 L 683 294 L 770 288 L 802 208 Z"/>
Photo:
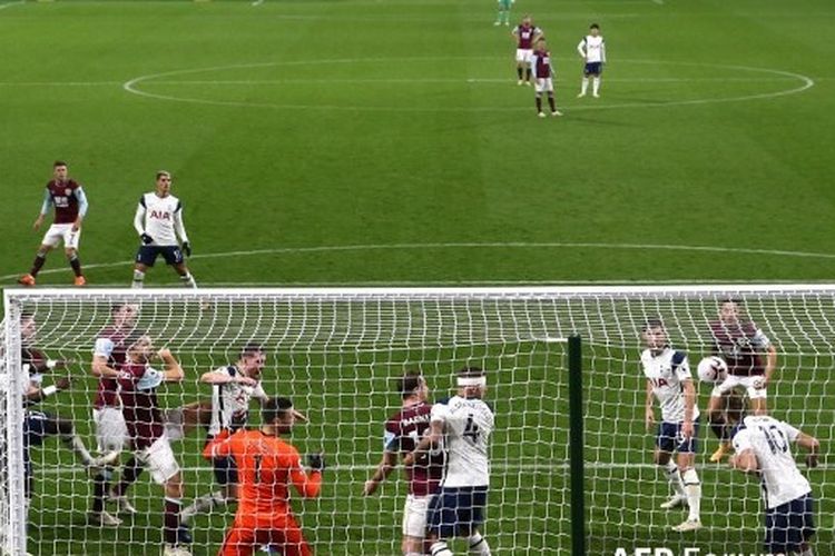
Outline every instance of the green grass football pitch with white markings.
<path fill-rule="evenodd" d="M 518 0 L 511 22 L 532 13 L 556 63 L 564 116 L 543 120 L 531 89 L 517 85 L 511 28 L 493 26 L 494 3 L 0 3 L 0 285 L 29 269 L 42 234 L 31 224 L 56 159 L 70 165 L 90 201 L 80 249 L 90 286 L 129 284 L 134 211 L 158 169 L 174 175 L 195 250 L 189 267 L 204 286 L 834 279 L 829 0 Z M 574 49 L 591 22 L 606 37 L 609 63 L 601 98 L 578 99 Z M 38 278 L 71 284 L 58 252 Z M 176 286 L 176 277 L 158 264 L 147 284 Z M 542 367 L 549 355 L 528 357 Z M 395 401 L 382 381 L 391 368 L 365 377 L 380 381 L 377 407 Z M 815 393 L 822 401 L 811 405 L 829 421 L 832 385 L 824 381 Z M 626 403 L 640 404 L 633 391 L 641 388 L 626 379 Z M 197 391 L 188 385 L 183 397 Z M 72 398 L 81 415 L 86 399 L 80 390 Z M 367 430 L 355 449 L 367 446 L 373 465 L 384 411 L 356 417 Z M 619 448 L 649 449 L 633 423 L 621 426 L 612 435 Z M 89 424 L 79 427 L 89 438 Z M 311 436 L 338 430 L 322 425 Z M 564 441 L 564 424 L 553 430 L 551 441 Z M 186 483 L 203 494 L 210 475 L 196 455 L 199 438 L 185 446 L 193 456 L 181 464 L 195 469 Z M 138 507 L 150 513 L 135 527 L 84 527 L 86 490 L 52 497 L 67 478 L 73 492 L 86 488 L 57 453 L 50 440 L 39 456 L 41 526 L 30 530 L 31 552 L 158 550 L 158 487 L 147 478 L 137 485 Z M 503 456 L 505 465 L 513 456 Z M 328 520 L 312 533 L 317 553 L 396 554 L 402 490 L 394 496 L 392 484 L 382 496 L 341 502 L 338 485 L 361 488 L 370 470 L 333 473 L 326 499 L 307 503 Z M 559 464 L 531 471 L 560 496 L 564 473 Z M 620 539 L 682 549 L 680 535 L 641 525 L 645 505 L 664 494 L 655 473 L 592 468 L 589 497 L 612 508 L 601 522 Z M 756 552 L 754 483 L 724 468 L 701 473 L 710 512 L 721 518 L 700 538 Z M 524 473 L 505 476 L 501 489 L 515 493 L 510 503 L 531 538 L 548 544 L 541 553 L 564 554 L 567 499 L 543 509 L 531 503 Z M 832 498 L 835 471 L 808 477 L 819 497 L 828 490 Z M 819 554 L 835 554 L 834 509 L 826 500 L 818 507 Z M 200 522 L 195 554 L 214 554 L 228 517 Z M 510 528 L 494 534 L 499 554 L 533 543 Z M 590 554 L 613 553 L 605 537 L 615 533 L 592 526 L 590 535 Z"/>

